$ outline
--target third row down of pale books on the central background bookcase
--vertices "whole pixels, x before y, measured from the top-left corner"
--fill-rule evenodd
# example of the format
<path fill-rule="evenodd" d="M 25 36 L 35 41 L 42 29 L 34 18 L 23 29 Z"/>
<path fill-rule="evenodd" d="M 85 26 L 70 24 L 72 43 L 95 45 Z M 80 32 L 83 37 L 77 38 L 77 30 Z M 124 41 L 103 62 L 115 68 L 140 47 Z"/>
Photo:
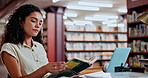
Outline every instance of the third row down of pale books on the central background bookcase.
<path fill-rule="evenodd" d="M 127 43 L 71 43 L 66 42 L 66 50 L 114 50 L 127 47 Z"/>

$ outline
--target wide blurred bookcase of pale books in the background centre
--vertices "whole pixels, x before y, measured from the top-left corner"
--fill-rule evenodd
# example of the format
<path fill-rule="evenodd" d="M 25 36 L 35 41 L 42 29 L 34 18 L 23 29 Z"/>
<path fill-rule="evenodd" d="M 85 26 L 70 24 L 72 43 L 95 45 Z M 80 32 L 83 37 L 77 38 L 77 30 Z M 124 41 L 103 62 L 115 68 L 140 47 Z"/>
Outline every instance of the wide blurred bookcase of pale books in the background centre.
<path fill-rule="evenodd" d="M 127 47 L 127 29 L 107 26 L 65 26 L 67 59 L 74 57 L 109 61 L 116 47 Z M 101 64 L 102 65 L 102 64 Z"/>

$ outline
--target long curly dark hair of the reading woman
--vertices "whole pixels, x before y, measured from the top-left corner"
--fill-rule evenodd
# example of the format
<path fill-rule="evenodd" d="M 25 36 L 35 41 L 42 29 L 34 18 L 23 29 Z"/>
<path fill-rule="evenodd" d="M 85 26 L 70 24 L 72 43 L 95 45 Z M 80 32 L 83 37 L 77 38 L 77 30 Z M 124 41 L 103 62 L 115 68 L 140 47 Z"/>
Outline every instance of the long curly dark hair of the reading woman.
<path fill-rule="evenodd" d="M 4 32 L 3 43 L 14 43 L 14 44 L 23 44 L 25 39 L 25 33 L 23 28 L 20 25 L 20 20 L 25 21 L 26 17 L 29 16 L 32 12 L 39 12 L 41 15 L 40 9 L 32 4 L 25 4 L 20 6 L 10 15 L 8 23 L 6 24 L 6 30 Z M 36 37 L 33 37 L 34 41 L 42 43 L 41 40 L 41 31 Z"/>

